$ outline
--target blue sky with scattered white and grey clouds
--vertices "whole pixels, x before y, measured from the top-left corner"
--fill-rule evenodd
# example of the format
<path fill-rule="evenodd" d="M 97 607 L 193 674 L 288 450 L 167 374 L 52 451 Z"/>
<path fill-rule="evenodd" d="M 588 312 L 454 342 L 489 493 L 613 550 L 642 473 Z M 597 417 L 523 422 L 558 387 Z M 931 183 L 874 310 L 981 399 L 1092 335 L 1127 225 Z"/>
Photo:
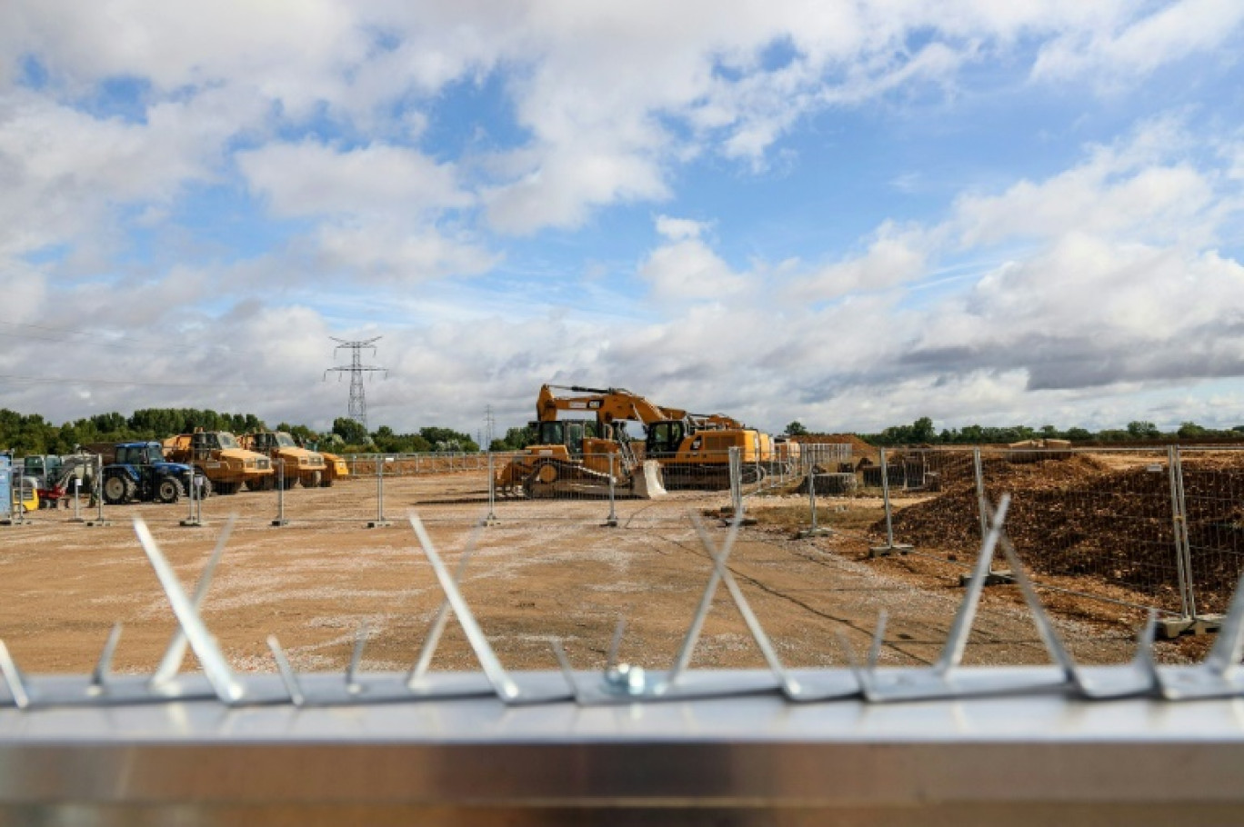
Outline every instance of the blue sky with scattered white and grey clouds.
<path fill-rule="evenodd" d="M 1244 424 L 1238 0 L 9 0 L 0 408 Z M 377 338 L 378 337 L 378 338 Z"/>

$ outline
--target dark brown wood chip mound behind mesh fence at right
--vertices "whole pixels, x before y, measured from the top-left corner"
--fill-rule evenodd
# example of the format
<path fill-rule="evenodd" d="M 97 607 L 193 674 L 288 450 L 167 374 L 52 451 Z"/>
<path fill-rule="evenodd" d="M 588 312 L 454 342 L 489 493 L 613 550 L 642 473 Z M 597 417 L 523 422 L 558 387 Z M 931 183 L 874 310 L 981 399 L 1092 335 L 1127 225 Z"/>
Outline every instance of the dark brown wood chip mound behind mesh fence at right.
<path fill-rule="evenodd" d="M 931 456 L 942 494 L 893 517 L 894 538 L 972 560 L 980 543 L 972 456 Z M 952 466 L 954 464 L 954 466 Z M 959 468 L 964 465 L 965 468 Z M 1112 468 L 1085 454 L 1069 459 L 983 461 L 991 501 L 1011 494 L 1006 531 L 1037 575 L 1117 586 L 1178 608 L 1178 573 L 1166 464 Z M 1244 561 L 1244 455 L 1186 458 L 1188 537 L 1198 609 L 1223 611 Z M 899 501 L 901 502 L 901 501 Z M 875 526 L 884 531 L 884 524 Z"/>

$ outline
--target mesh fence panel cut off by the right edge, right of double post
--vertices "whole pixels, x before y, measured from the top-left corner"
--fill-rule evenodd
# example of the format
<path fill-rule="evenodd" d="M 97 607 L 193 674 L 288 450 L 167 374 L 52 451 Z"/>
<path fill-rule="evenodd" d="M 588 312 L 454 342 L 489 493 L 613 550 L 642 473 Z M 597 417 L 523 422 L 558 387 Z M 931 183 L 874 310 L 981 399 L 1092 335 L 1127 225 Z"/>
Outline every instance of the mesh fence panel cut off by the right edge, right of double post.
<path fill-rule="evenodd" d="M 1244 450 L 1183 448 L 1178 456 L 1195 613 L 1219 614 L 1244 568 Z"/>

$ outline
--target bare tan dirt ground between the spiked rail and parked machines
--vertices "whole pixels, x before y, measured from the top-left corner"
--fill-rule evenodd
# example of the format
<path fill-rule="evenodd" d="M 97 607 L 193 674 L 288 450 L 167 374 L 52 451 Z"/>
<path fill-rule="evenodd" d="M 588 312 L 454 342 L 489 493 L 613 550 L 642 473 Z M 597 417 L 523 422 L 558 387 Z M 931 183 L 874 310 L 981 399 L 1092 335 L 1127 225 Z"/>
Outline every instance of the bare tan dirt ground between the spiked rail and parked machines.
<path fill-rule="evenodd" d="M 40 511 L 26 525 L 0 527 L 0 638 L 26 672 L 88 673 L 119 622 L 114 669 L 153 670 L 175 624 L 134 536 L 134 517 L 148 522 L 192 591 L 228 516 L 236 514 L 203 606 L 234 668 L 275 672 L 265 643 L 275 634 L 295 668 L 343 669 L 366 624 L 363 668 L 407 669 L 442 602 L 407 515 L 419 514 L 453 567 L 473 526 L 488 515 L 486 491 L 484 473 L 387 478 L 383 516 L 392 525 L 374 529 L 364 527 L 379 516 L 377 485 L 368 479 L 287 491 L 289 525 L 282 527 L 271 525 L 277 495 L 266 491 L 208 499 L 204 527 L 179 525 L 188 515 L 184 501 L 106 507 L 112 525 L 95 527 L 70 522 L 72 512 L 63 509 Z M 836 531 L 795 538 L 802 502 L 751 502 L 758 525 L 743 530 L 729 563 L 782 662 L 845 664 L 838 633 L 862 657 L 881 609 L 889 617 L 882 662 L 933 662 L 963 594 L 962 567 L 913 557 L 870 560 L 867 548 L 877 537 L 866 526 L 880 516 L 880 502 L 826 501 L 819 522 Z M 611 527 L 603 525 L 606 501 L 500 501 L 495 524 L 478 530 L 463 594 L 510 669 L 555 669 L 551 638 L 564 642 L 575 668 L 602 668 L 623 618 L 621 660 L 668 667 L 712 571 L 690 515 L 719 515 L 725 505 L 725 494 L 707 492 L 618 501 L 618 525 Z M 83 507 L 83 516 L 96 511 Z M 720 543 L 724 522 L 704 516 L 704 525 Z M 967 663 L 1049 660 L 1014 592 L 989 589 Z M 1135 612 L 1072 607 L 1056 621 L 1085 663 L 1120 663 L 1133 653 Z M 1162 644 L 1158 657 L 1184 662 L 1194 654 L 1189 644 Z M 726 589 L 718 589 L 692 665 L 763 663 Z M 195 668 L 193 657 L 185 668 Z M 455 623 L 433 668 L 478 668 Z"/>

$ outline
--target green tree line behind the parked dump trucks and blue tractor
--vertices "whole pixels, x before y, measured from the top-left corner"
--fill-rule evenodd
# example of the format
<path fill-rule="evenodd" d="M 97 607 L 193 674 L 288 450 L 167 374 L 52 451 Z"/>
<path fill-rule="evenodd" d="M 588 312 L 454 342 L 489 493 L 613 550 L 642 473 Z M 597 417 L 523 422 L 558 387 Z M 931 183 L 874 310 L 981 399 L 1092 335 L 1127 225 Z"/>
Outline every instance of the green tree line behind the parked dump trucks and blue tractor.
<path fill-rule="evenodd" d="M 60 425 L 41 414 L 22 414 L 0 408 L 0 450 L 14 454 L 71 454 L 91 443 L 162 440 L 188 434 L 195 428 L 248 434 L 258 430 L 284 430 L 309 448 L 342 453 L 414 454 L 433 451 L 474 453 L 479 445 L 468 434 L 450 428 L 427 427 L 417 433 L 398 434 L 388 425 L 372 433 L 355 419 L 335 419 L 332 429 L 317 433 L 306 425 L 277 423 L 275 428 L 255 414 L 219 413 L 197 408 L 144 408 L 126 417 L 119 413 L 95 414 Z"/>

